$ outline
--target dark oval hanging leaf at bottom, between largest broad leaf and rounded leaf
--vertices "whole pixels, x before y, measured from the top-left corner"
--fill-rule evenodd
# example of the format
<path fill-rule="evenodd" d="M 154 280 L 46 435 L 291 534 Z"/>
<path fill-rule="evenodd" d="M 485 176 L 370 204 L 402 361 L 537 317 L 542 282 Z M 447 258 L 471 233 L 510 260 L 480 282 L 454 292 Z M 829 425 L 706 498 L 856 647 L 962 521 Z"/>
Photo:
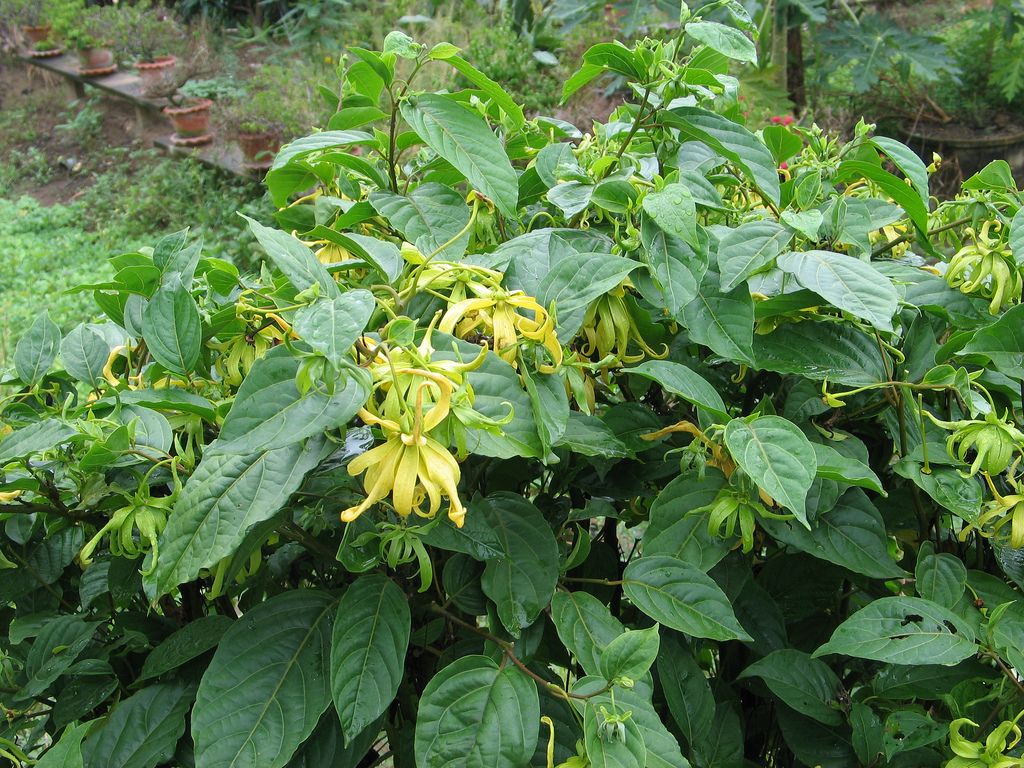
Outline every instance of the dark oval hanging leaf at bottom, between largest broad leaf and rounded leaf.
<path fill-rule="evenodd" d="M 331 690 L 346 744 L 394 699 L 406 670 L 411 622 L 406 596 L 383 574 L 359 577 L 338 603 Z"/>

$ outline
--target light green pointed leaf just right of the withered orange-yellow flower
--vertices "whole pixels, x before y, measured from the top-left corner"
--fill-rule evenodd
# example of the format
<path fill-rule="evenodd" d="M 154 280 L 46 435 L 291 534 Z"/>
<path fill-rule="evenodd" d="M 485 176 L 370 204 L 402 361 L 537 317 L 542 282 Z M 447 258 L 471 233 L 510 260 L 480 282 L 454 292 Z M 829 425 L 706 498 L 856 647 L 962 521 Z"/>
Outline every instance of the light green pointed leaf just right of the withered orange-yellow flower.
<path fill-rule="evenodd" d="M 807 492 L 817 458 L 806 435 L 780 416 L 733 419 L 725 427 L 732 459 L 768 496 L 807 522 Z"/>

